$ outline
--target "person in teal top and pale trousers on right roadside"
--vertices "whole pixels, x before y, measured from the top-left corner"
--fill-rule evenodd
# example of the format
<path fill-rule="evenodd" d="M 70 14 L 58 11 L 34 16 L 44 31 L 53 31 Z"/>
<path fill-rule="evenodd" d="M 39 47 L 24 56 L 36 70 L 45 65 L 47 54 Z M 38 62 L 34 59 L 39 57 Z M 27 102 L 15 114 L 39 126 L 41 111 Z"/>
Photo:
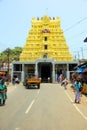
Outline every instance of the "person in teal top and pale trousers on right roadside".
<path fill-rule="evenodd" d="M 75 83 L 74 83 L 74 88 L 75 88 L 75 103 L 80 103 L 81 99 L 81 88 L 82 84 L 80 82 L 80 78 L 77 78 Z"/>

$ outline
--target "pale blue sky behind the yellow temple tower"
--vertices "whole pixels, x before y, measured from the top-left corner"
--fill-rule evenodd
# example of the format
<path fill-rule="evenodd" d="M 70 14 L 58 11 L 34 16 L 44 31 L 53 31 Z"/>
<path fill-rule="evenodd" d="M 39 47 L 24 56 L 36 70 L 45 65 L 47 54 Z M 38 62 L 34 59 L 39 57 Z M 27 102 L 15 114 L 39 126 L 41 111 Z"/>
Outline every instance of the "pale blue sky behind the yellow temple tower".
<path fill-rule="evenodd" d="M 33 17 L 60 17 L 70 52 L 87 58 L 87 0 L 0 0 L 0 52 L 24 47 Z"/>

